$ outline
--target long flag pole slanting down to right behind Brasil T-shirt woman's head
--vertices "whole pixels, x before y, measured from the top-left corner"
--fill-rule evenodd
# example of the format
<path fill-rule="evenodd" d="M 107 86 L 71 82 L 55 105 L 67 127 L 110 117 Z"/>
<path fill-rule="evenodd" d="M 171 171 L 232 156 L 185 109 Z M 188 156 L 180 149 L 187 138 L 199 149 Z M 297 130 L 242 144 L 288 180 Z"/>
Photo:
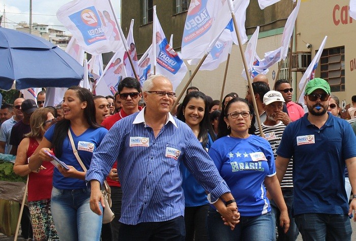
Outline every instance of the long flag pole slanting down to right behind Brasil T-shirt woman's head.
<path fill-rule="evenodd" d="M 230 3 L 228 1 L 228 3 Z M 245 52 L 242 49 L 242 42 L 241 42 L 241 37 L 240 37 L 240 33 L 239 33 L 239 27 L 238 27 L 238 23 L 236 22 L 236 18 L 235 18 L 235 13 L 232 9 L 232 6 L 229 4 L 230 6 L 230 11 L 231 11 L 231 17 L 232 17 L 232 21 L 233 21 L 233 26 L 235 27 L 235 33 L 236 36 L 238 37 L 238 42 L 239 42 L 239 48 L 240 48 L 240 52 L 241 52 L 241 56 L 242 56 L 242 61 L 244 63 L 244 67 L 245 67 L 245 73 L 247 76 L 247 82 L 249 85 L 249 89 L 250 89 L 250 93 L 252 95 L 253 98 L 252 99 L 252 103 L 253 103 L 253 108 L 255 109 L 255 115 L 256 115 L 256 120 L 257 120 L 257 124 L 258 124 L 258 129 L 259 129 L 259 133 L 261 135 L 261 137 L 264 137 L 263 131 L 262 131 L 262 126 L 261 126 L 261 120 L 259 118 L 259 114 L 258 114 L 258 109 L 257 109 L 257 103 L 256 103 L 256 99 L 254 98 L 255 93 L 253 92 L 253 88 L 252 88 L 252 82 L 251 82 L 251 78 L 250 78 L 250 73 L 248 71 L 248 65 L 246 62 L 246 57 L 245 57 Z"/>

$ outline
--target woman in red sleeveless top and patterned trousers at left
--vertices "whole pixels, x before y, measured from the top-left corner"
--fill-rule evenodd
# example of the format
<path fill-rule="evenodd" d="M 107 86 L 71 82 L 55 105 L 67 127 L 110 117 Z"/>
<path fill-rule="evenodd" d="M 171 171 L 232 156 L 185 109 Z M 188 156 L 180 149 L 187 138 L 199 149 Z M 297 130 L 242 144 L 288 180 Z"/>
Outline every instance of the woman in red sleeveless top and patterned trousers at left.
<path fill-rule="evenodd" d="M 48 108 L 37 109 L 29 119 L 31 132 L 25 135 L 17 149 L 14 172 L 28 174 L 28 207 L 34 232 L 34 240 L 58 240 L 51 214 L 51 191 L 54 166 L 45 162 L 36 170 L 28 167 L 27 159 L 41 143 L 45 131 L 54 120 Z"/>

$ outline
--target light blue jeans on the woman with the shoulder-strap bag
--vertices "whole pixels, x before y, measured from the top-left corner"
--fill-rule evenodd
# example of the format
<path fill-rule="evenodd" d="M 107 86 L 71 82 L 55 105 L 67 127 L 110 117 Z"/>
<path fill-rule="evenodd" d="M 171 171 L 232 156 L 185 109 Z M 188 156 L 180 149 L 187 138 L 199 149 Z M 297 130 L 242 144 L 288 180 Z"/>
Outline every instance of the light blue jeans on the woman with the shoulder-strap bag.
<path fill-rule="evenodd" d="M 52 217 L 60 240 L 100 240 L 102 216 L 90 209 L 89 199 L 90 189 L 87 188 L 52 188 Z"/>

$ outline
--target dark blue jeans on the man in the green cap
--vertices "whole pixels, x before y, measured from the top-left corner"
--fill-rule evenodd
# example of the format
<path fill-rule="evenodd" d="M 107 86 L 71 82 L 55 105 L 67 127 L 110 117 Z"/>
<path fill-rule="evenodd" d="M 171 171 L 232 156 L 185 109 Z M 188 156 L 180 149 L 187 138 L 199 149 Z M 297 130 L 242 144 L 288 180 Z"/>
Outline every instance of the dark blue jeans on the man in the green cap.
<path fill-rule="evenodd" d="M 303 240 L 351 240 L 351 224 L 347 215 L 300 214 L 294 217 Z"/>

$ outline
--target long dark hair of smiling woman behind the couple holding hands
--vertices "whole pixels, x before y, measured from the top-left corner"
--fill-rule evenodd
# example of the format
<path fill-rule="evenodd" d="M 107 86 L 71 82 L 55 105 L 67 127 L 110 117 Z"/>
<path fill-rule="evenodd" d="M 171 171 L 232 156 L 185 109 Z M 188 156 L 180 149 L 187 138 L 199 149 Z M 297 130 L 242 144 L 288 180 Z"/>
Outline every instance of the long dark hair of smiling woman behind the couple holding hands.
<path fill-rule="evenodd" d="M 207 138 L 208 133 L 210 134 L 210 137 L 213 139 L 213 141 L 215 140 L 214 129 L 209 119 L 209 110 L 207 109 L 207 100 L 205 94 L 200 91 L 193 91 L 186 95 L 183 100 L 183 103 L 181 104 L 182 107 L 180 107 L 179 111 L 177 112 L 177 118 L 182 120 L 182 122 L 184 123 L 186 122 L 186 118 L 184 117 L 183 111 L 192 98 L 202 99 L 205 104 L 204 115 L 201 122 L 199 123 L 200 130 L 198 134 L 198 140 L 202 140 L 202 146 L 205 148 L 206 143 L 209 140 Z"/>

